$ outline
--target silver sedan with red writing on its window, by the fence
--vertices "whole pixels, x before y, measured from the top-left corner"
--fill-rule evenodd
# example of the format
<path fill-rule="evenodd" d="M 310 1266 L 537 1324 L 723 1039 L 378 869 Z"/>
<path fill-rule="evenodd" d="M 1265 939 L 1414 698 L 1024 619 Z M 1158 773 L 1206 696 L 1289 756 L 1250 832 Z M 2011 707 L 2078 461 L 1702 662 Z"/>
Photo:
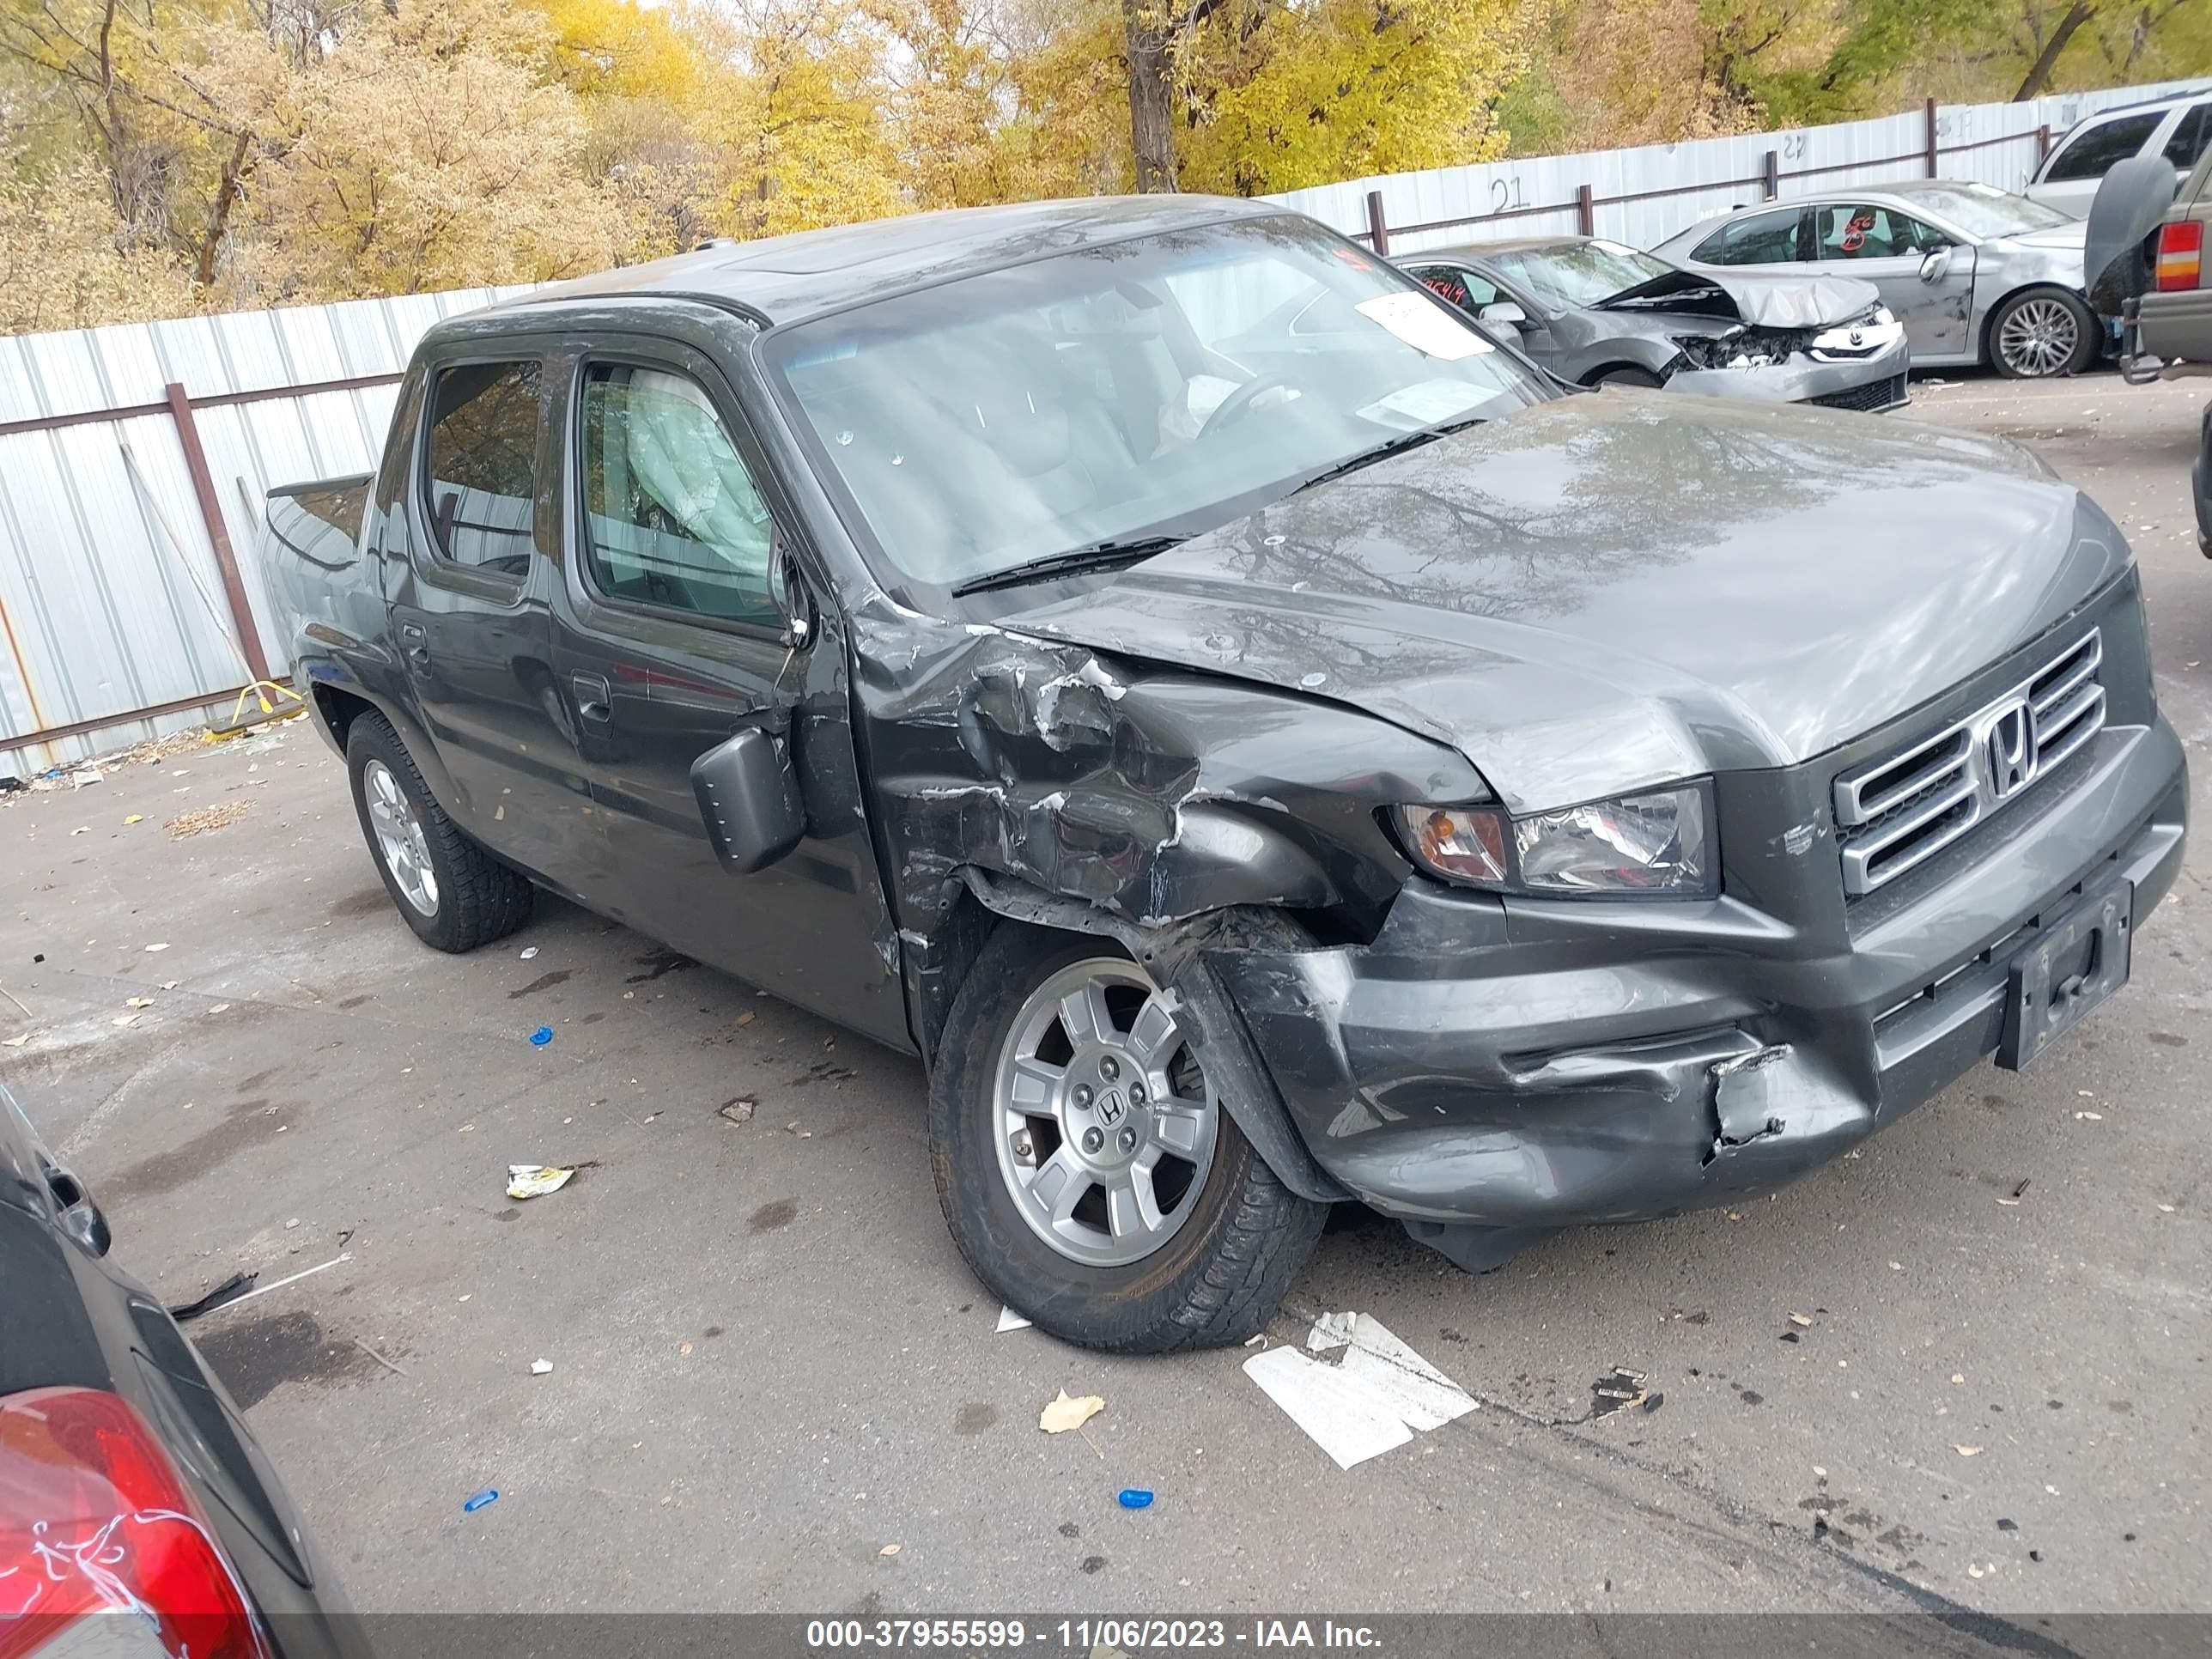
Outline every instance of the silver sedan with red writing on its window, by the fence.
<path fill-rule="evenodd" d="M 1986 184 L 1911 179 L 1703 219 L 1652 252 L 1705 270 L 1863 276 L 1905 323 L 1913 367 L 1989 363 L 2035 380 L 2097 361 L 2086 226 Z"/>

